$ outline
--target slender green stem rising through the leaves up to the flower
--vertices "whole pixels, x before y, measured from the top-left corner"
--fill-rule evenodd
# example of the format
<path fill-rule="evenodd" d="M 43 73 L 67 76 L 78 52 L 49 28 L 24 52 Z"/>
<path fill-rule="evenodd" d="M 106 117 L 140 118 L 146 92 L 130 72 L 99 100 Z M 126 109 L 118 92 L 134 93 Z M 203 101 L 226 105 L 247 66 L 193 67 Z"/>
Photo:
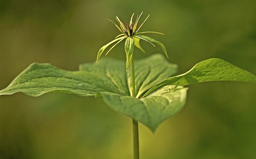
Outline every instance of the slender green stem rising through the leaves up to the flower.
<path fill-rule="evenodd" d="M 135 89 L 135 75 L 134 75 L 134 60 L 133 55 L 130 61 L 130 71 L 131 71 L 131 83 L 132 83 L 132 96 L 136 97 L 136 89 Z M 132 130 L 133 130 L 133 158 L 140 158 L 139 151 L 139 128 L 138 122 L 132 119 Z"/>

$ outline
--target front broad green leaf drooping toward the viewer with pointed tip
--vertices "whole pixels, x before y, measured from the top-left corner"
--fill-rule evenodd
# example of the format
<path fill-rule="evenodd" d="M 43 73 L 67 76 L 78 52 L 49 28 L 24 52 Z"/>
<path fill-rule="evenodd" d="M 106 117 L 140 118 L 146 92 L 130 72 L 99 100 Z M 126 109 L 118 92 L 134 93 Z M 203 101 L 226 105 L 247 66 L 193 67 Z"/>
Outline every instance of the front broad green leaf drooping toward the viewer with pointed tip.
<path fill-rule="evenodd" d="M 110 92 L 100 92 L 98 96 L 102 96 L 112 109 L 143 123 L 155 132 L 160 123 L 183 108 L 187 89 L 176 85 L 164 86 L 141 99 Z"/>

